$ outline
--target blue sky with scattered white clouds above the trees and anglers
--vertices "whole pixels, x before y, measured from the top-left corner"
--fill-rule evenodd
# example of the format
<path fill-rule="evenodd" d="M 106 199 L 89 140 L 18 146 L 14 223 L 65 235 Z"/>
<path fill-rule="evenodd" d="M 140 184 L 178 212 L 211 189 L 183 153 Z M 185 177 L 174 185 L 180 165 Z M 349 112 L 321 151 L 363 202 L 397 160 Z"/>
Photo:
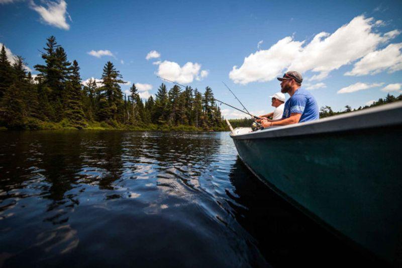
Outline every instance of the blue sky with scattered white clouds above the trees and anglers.
<path fill-rule="evenodd" d="M 275 77 L 298 70 L 319 105 L 338 111 L 402 93 L 401 15 L 401 1 L 0 0 L 0 43 L 33 69 L 54 35 L 83 80 L 100 78 L 110 60 L 143 97 L 156 93 L 159 74 L 209 85 L 239 107 L 224 81 L 257 115 L 272 110 Z"/>

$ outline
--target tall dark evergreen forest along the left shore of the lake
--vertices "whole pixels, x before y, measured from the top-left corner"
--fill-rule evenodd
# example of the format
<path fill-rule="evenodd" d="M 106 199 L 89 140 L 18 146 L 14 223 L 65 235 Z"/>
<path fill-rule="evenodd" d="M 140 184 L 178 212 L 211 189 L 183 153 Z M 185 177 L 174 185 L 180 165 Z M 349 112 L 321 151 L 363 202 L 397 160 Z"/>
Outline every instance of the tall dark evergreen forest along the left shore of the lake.
<path fill-rule="evenodd" d="M 78 62 L 68 61 L 56 38 L 47 38 L 43 64 L 26 71 L 24 58 L 11 64 L 5 46 L 0 53 L 0 127 L 9 129 L 119 128 L 225 130 L 211 87 L 202 93 L 190 86 L 162 83 L 142 101 L 135 83 L 126 96 L 120 71 L 108 61 L 102 77 L 82 84 Z"/>

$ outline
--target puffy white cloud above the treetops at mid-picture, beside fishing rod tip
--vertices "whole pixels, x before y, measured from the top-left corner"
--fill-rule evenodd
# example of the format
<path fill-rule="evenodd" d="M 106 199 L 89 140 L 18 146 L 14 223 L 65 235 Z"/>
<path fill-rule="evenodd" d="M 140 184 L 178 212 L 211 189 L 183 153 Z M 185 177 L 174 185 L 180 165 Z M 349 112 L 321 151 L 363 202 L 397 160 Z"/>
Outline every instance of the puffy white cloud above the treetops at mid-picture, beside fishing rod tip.
<path fill-rule="evenodd" d="M 202 70 L 198 63 L 187 62 L 182 67 L 173 61 L 163 61 L 159 64 L 157 74 L 163 78 L 179 83 L 191 83 L 194 79 L 201 80 L 208 75 L 207 70 Z"/>

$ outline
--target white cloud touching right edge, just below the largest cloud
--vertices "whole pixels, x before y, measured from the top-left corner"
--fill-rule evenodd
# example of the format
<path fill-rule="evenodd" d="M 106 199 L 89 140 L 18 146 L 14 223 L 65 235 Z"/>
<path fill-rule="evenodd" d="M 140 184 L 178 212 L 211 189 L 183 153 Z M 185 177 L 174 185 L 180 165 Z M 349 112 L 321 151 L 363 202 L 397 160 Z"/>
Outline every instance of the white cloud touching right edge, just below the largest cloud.
<path fill-rule="evenodd" d="M 381 50 L 376 50 L 365 55 L 355 63 L 353 69 L 345 75 L 376 74 L 384 70 L 395 72 L 402 70 L 402 43 L 389 44 Z"/>

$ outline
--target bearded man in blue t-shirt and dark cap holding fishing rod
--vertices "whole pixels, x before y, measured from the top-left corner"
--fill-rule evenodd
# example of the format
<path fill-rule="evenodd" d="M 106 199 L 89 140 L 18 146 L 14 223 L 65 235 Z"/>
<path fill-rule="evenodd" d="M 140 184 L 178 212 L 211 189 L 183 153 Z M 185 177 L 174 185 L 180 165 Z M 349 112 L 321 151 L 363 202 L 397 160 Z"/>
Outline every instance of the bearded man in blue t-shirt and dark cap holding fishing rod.
<path fill-rule="evenodd" d="M 309 91 L 300 88 L 303 77 L 296 71 L 288 71 L 283 77 L 277 77 L 281 93 L 290 95 L 283 110 L 283 116 L 278 120 L 260 119 L 258 122 L 266 127 L 284 126 L 295 123 L 318 120 L 320 118 L 318 104 Z"/>

